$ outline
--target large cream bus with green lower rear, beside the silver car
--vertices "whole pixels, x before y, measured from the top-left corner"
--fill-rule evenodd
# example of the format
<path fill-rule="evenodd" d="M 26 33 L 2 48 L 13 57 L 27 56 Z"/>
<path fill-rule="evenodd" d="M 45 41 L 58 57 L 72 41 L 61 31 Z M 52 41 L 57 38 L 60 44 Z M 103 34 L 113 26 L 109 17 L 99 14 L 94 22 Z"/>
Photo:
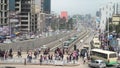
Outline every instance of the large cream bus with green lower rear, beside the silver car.
<path fill-rule="evenodd" d="M 92 60 L 103 60 L 106 65 L 115 65 L 117 64 L 117 53 L 102 49 L 92 49 L 91 50 L 91 59 Z"/>

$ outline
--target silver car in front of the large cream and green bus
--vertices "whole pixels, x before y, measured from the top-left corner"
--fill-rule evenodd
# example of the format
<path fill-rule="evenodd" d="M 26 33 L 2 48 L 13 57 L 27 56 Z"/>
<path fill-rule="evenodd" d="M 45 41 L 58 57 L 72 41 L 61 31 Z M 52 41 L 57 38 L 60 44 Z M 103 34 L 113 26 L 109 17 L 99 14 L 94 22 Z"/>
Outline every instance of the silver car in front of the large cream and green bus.
<path fill-rule="evenodd" d="M 89 67 L 106 68 L 106 64 L 103 60 L 91 60 L 88 65 Z"/>

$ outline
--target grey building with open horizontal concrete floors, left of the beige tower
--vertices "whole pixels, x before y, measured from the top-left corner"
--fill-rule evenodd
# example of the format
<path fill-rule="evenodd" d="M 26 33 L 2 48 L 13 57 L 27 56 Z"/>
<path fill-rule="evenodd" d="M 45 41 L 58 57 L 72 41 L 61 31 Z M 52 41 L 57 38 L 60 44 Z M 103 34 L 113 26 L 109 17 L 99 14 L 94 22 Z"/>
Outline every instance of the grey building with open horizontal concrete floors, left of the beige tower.
<path fill-rule="evenodd" d="M 35 32 L 35 1 L 15 0 L 15 11 L 20 14 L 20 31 L 23 33 Z"/>

